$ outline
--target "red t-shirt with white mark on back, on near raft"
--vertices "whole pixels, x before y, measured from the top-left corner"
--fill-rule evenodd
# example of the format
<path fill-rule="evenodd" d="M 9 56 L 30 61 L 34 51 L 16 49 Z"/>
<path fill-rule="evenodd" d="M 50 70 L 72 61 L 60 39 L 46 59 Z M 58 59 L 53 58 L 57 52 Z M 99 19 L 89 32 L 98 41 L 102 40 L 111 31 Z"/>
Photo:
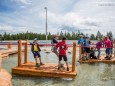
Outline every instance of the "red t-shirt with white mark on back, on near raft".
<path fill-rule="evenodd" d="M 56 48 L 58 47 L 59 47 L 59 55 L 66 55 L 66 50 L 68 49 L 67 44 L 64 41 L 62 41 L 56 45 Z"/>

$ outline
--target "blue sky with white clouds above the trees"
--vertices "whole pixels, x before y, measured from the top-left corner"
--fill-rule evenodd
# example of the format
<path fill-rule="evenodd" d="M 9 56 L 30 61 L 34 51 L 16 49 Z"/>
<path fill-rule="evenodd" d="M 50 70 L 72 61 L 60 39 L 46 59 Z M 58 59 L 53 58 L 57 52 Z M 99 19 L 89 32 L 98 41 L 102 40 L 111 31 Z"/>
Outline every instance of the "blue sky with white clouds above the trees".
<path fill-rule="evenodd" d="M 0 33 L 45 33 L 44 7 L 48 32 L 115 34 L 115 0 L 0 0 Z"/>

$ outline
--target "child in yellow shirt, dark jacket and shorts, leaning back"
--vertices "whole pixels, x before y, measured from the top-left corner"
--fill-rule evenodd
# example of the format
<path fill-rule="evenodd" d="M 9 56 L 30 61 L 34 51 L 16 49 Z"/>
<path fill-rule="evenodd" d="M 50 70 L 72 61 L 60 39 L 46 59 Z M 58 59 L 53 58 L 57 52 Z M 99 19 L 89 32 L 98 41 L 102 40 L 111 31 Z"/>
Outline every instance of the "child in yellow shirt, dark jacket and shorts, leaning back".
<path fill-rule="evenodd" d="M 39 44 L 37 43 L 38 40 L 37 38 L 34 39 L 34 42 L 31 44 L 31 51 L 34 55 L 34 58 L 36 60 L 36 67 L 40 67 L 40 65 L 44 65 L 41 61 L 41 55 L 40 55 L 40 47 L 39 47 Z M 38 63 L 38 58 L 39 58 L 39 61 L 40 61 L 40 64 Z"/>

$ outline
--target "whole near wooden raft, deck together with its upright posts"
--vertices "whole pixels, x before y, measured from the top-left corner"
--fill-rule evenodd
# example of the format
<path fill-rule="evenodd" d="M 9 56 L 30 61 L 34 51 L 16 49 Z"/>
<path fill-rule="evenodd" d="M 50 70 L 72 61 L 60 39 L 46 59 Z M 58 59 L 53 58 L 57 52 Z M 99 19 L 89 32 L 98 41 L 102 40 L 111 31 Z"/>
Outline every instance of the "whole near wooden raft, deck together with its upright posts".
<path fill-rule="evenodd" d="M 21 45 L 25 43 L 24 63 L 21 63 Z M 40 67 L 35 67 L 34 62 L 28 62 L 27 41 L 18 41 L 18 66 L 12 69 L 13 74 L 39 77 L 55 77 L 55 78 L 75 78 L 76 73 L 76 43 L 73 43 L 72 65 L 69 65 L 69 71 L 65 69 L 58 70 L 58 64 L 48 63 Z"/>

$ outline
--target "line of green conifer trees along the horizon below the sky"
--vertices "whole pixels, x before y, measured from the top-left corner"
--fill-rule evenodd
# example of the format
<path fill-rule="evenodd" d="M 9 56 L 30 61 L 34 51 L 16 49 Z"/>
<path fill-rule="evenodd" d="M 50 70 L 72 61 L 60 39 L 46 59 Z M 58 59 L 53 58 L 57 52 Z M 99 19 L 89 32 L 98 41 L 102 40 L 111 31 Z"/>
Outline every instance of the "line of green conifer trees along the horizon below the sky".
<path fill-rule="evenodd" d="M 80 35 L 84 35 L 82 32 L 78 31 L 78 32 L 60 32 L 57 33 L 59 36 L 59 39 L 62 39 L 63 36 L 67 37 L 68 40 L 78 40 L 80 38 Z M 111 36 L 113 37 L 112 32 L 107 32 L 107 36 Z M 33 32 L 25 32 L 25 33 L 16 33 L 16 34 L 10 34 L 10 33 L 6 33 L 4 32 L 4 34 L 0 34 L 0 40 L 33 40 L 34 38 L 38 38 L 39 40 L 45 40 L 46 39 L 46 35 L 43 33 L 33 33 Z M 53 34 L 51 34 L 50 32 L 47 35 L 48 40 L 51 40 L 53 38 Z M 97 32 L 96 35 L 91 34 L 90 36 L 91 40 L 98 40 L 98 38 L 102 38 L 103 34 L 101 34 L 100 31 Z"/>

